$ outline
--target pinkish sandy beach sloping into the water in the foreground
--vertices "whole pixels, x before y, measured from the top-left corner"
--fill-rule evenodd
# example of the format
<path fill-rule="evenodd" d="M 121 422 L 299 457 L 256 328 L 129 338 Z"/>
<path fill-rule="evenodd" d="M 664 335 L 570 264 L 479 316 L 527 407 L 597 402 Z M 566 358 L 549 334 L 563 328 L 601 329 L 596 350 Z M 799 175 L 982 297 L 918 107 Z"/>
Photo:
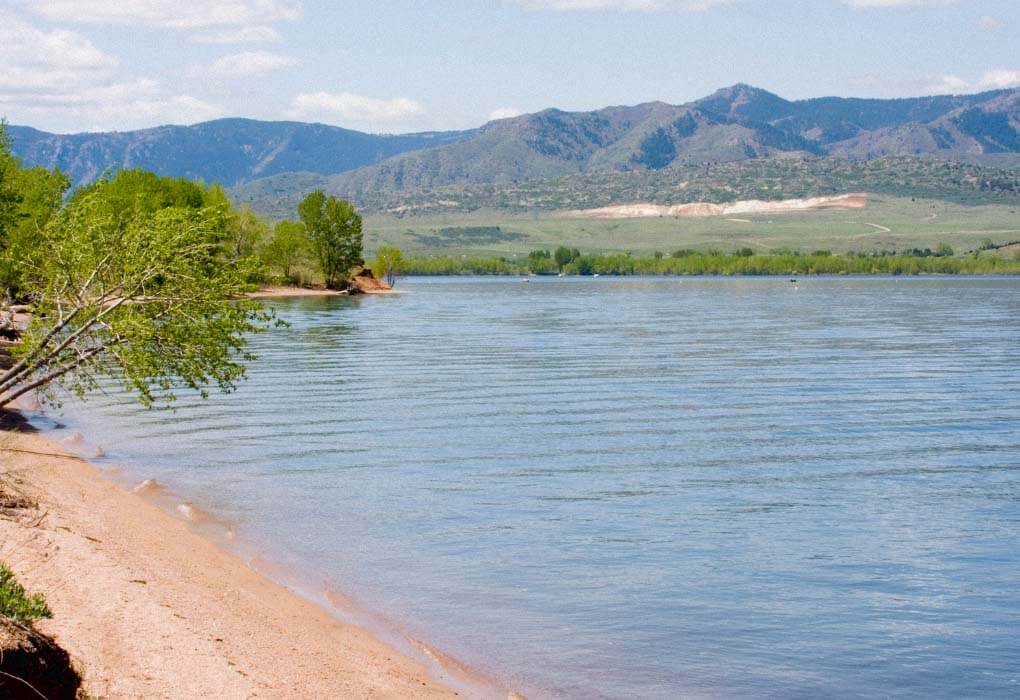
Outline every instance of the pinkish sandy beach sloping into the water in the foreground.
<path fill-rule="evenodd" d="M 94 696 L 507 697 L 270 581 L 42 435 L 0 432 L 0 465 L 39 503 L 0 517 L 0 560 L 46 596 L 39 628 Z"/>

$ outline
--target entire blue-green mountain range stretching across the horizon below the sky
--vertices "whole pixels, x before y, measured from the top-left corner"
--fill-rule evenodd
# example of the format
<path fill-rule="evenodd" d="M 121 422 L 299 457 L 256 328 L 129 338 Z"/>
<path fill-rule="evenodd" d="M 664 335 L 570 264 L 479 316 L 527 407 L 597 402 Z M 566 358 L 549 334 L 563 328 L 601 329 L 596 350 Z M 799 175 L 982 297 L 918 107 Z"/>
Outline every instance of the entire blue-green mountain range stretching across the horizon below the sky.
<path fill-rule="evenodd" d="M 8 131 L 23 161 L 60 167 L 75 184 L 120 167 L 142 167 L 219 182 L 257 208 L 258 193 L 293 199 L 313 187 L 357 201 L 367 192 L 763 158 L 910 155 L 1015 166 L 1020 163 L 1020 89 L 790 101 L 735 85 L 682 105 L 546 109 L 476 130 L 398 136 L 251 119 L 123 133 Z"/>

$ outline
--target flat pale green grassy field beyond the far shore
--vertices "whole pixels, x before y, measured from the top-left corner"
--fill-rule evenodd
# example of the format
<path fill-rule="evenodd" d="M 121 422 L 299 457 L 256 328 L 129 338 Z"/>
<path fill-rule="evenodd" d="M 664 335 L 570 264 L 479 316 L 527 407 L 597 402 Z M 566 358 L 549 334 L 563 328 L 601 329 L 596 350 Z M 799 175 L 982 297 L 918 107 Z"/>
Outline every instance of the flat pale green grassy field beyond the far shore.
<path fill-rule="evenodd" d="M 495 227 L 499 232 L 479 231 Z M 477 211 L 365 218 L 369 256 L 380 244 L 396 245 L 413 257 L 513 256 L 560 245 L 584 253 L 669 253 L 680 248 L 732 252 L 742 247 L 761 253 L 780 248 L 842 253 L 934 248 L 939 242 L 962 253 L 987 239 L 1000 245 L 1020 240 L 1020 207 L 873 197 L 864 209 L 732 217 L 583 220 L 549 212 Z"/>

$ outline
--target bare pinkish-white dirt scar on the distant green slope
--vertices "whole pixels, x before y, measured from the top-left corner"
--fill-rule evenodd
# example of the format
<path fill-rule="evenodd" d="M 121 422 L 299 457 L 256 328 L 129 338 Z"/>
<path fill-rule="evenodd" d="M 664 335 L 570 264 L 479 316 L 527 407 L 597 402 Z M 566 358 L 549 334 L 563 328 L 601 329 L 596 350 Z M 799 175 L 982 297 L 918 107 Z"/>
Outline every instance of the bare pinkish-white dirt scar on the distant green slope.
<path fill-rule="evenodd" d="M 568 218 L 657 218 L 677 216 L 697 218 L 706 216 L 733 216 L 735 214 L 770 214 L 795 211 L 815 211 L 818 209 L 863 209 L 868 204 L 868 194 L 852 192 L 832 197 L 809 197 L 806 199 L 782 199 L 765 201 L 748 199 L 728 204 L 692 202 L 690 204 L 617 204 L 598 209 L 575 209 L 564 212 Z"/>

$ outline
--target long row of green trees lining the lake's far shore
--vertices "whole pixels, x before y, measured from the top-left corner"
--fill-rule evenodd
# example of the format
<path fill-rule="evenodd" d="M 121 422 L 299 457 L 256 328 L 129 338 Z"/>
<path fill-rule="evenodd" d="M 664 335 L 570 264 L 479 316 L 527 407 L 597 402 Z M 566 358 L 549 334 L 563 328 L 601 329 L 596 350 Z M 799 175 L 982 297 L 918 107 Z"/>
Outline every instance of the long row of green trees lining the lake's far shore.
<path fill-rule="evenodd" d="M 557 253 L 562 251 L 558 250 Z M 569 259 L 567 259 L 569 258 Z M 526 258 L 412 257 L 401 270 L 428 274 L 648 274 L 648 276 L 798 276 L 798 274 L 1020 274 L 1020 252 L 1004 255 L 978 250 L 966 255 L 951 251 L 913 250 L 902 253 L 800 253 L 776 251 L 756 254 L 678 250 L 670 255 L 626 253 L 557 255 L 532 251 Z"/>

